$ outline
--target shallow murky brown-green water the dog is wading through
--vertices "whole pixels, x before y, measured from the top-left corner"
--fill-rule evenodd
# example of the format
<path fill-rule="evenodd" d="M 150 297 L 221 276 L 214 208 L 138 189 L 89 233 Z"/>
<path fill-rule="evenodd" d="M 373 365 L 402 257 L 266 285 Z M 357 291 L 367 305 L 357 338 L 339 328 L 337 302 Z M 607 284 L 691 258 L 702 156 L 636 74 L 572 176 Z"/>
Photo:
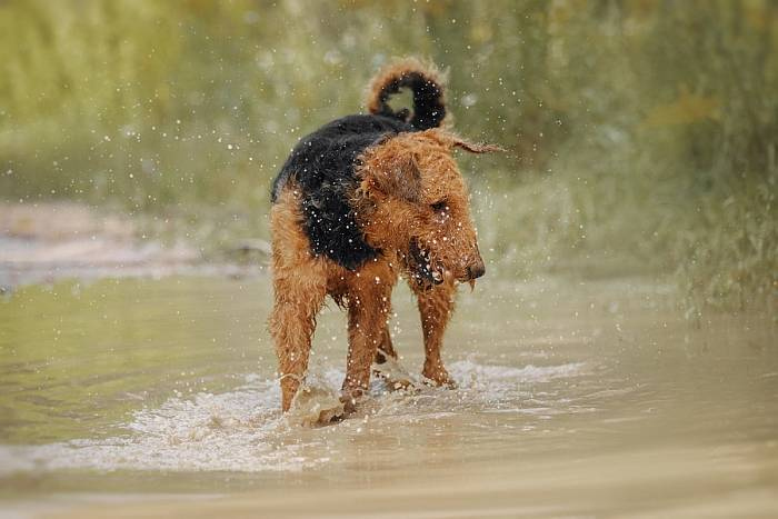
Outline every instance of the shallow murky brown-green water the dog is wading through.
<path fill-rule="evenodd" d="M 457 390 L 278 411 L 267 281 L 101 280 L 0 301 L 0 515 L 581 517 L 778 513 L 771 316 L 689 323 L 647 280 L 462 290 Z M 393 298 L 418 373 L 411 298 Z M 319 321 L 309 385 L 343 377 Z M 418 377 L 418 376 L 417 376 Z"/>

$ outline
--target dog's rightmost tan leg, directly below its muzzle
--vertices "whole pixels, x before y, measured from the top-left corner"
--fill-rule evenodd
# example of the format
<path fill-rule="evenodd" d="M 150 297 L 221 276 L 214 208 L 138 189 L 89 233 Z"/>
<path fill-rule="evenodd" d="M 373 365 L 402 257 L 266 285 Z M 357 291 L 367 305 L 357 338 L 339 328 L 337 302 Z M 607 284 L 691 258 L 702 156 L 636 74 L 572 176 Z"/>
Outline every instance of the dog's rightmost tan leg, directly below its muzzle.
<path fill-rule="evenodd" d="M 435 386 L 453 388 L 456 383 L 443 367 L 440 350 L 446 326 L 453 313 L 457 289 L 449 279 L 427 290 L 411 283 L 411 289 L 418 298 L 425 337 L 425 367 L 421 375 Z"/>

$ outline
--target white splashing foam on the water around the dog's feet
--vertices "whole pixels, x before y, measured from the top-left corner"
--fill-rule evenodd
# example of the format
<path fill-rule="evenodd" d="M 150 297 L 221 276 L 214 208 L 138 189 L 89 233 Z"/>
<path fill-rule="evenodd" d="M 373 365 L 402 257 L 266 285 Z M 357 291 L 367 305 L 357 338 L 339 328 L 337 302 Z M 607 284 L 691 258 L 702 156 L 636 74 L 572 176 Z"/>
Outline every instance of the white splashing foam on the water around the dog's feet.
<path fill-rule="evenodd" d="M 433 418 L 441 415 L 547 410 L 527 386 L 585 372 L 582 363 L 523 368 L 485 366 L 473 360 L 450 365 L 459 389 L 423 386 L 412 379 L 412 390 L 391 390 L 376 380 L 359 413 L 393 419 Z M 397 367 L 392 373 L 397 375 Z M 407 371 L 401 371 L 411 378 Z M 343 372 L 325 370 L 309 376 L 310 398 L 298 399 L 297 409 L 285 417 L 279 411 L 276 380 L 248 376 L 232 391 L 199 393 L 191 399 L 171 398 L 153 409 L 136 411 L 123 427 L 126 435 L 79 439 L 43 446 L 0 446 L 0 476 L 58 469 L 239 471 L 301 470 L 329 461 L 327 449 L 316 447 L 317 431 L 300 439 L 300 427 L 317 421 L 322 411 L 339 405 L 337 388 Z M 531 389 L 531 388 L 530 388 Z M 346 420 L 328 427 L 348 428 Z M 285 441 L 285 440 L 293 441 Z M 305 452 L 303 452 L 305 451 Z M 323 456 L 311 456 L 310 452 Z"/>

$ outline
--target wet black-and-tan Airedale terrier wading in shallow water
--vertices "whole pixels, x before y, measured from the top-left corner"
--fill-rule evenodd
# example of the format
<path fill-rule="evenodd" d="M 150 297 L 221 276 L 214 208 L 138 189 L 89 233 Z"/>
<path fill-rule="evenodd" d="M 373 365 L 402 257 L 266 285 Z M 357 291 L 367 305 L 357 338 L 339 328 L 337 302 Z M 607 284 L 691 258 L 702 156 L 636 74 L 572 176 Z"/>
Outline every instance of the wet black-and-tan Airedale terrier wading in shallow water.
<path fill-rule="evenodd" d="M 388 103 L 401 89 L 412 92 L 412 112 Z M 306 376 L 327 296 L 348 311 L 341 401 L 353 410 L 372 363 L 397 358 L 387 319 L 399 277 L 418 299 L 425 381 L 455 387 L 440 356 L 443 330 L 457 283 L 472 286 L 486 272 L 452 152 L 499 148 L 445 128 L 442 77 L 416 59 L 381 70 L 368 87 L 367 108 L 302 138 L 272 184 L 269 330 L 285 412 Z"/>

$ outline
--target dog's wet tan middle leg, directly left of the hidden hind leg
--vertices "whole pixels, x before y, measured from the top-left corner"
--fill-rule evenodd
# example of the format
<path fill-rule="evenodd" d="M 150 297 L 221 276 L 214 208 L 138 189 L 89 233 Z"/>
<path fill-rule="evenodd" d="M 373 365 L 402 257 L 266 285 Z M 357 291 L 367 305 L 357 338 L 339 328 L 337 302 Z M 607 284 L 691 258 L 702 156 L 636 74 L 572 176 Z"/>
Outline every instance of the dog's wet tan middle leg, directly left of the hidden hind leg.
<path fill-rule="evenodd" d="M 367 391 L 370 383 L 370 367 L 379 345 L 388 333 L 391 285 L 377 282 L 379 278 L 362 277 L 363 282 L 350 289 L 349 310 L 349 353 L 343 380 L 343 401 L 347 409 L 353 408 L 356 400 Z"/>

